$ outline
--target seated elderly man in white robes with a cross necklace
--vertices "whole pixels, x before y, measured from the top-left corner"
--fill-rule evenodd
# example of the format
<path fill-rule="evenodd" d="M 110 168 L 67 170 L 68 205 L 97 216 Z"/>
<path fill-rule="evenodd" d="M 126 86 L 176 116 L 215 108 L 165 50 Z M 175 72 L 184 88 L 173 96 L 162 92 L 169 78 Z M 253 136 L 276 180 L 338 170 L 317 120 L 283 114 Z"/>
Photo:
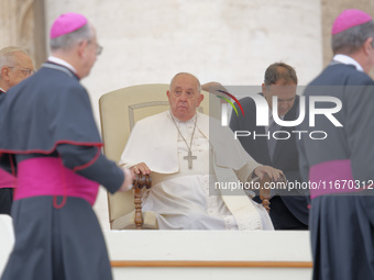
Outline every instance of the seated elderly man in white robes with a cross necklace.
<path fill-rule="evenodd" d="M 195 76 L 177 74 L 166 94 L 170 110 L 139 121 L 120 160 L 136 173 L 152 172 L 143 211 L 156 213 L 161 229 L 274 229 L 243 190 L 229 195 L 217 186 L 265 173 L 277 180 L 282 171 L 254 161 L 231 130 L 196 112 L 204 96 Z"/>

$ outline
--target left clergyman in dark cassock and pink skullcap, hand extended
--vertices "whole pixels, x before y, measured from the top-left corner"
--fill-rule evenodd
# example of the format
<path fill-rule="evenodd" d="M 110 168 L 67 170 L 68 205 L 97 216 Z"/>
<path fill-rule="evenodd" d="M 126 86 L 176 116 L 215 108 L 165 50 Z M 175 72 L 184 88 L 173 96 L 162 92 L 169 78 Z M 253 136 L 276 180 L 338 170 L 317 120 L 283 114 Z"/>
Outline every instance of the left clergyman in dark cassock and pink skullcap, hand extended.
<path fill-rule="evenodd" d="M 61 15 L 51 32 L 53 56 L 0 104 L 0 153 L 18 179 L 15 244 L 1 280 L 112 279 L 92 204 L 99 184 L 124 191 L 132 175 L 101 154 L 79 83 L 99 54 L 96 41 L 85 16 Z"/>

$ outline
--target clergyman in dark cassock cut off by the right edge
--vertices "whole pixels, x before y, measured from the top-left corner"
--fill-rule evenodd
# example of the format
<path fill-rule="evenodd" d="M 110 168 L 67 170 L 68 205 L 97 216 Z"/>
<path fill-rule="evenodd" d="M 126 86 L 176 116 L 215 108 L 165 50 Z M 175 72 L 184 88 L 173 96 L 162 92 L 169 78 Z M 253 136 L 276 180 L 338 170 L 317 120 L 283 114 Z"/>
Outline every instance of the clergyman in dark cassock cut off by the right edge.
<path fill-rule="evenodd" d="M 374 279 L 374 22 L 360 10 L 345 10 L 332 27 L 332 63 L 305 90 L 300 171 L 310 188 L 310 234 L 315 280 Z M 331 114 L 311 114 L 315 103 Z M 341 108 L 340 108 L 341 105 Z M 332 111 L 331 111 L 332 112 Z M 329 117 L 328 117 L 329 115 Z"/>

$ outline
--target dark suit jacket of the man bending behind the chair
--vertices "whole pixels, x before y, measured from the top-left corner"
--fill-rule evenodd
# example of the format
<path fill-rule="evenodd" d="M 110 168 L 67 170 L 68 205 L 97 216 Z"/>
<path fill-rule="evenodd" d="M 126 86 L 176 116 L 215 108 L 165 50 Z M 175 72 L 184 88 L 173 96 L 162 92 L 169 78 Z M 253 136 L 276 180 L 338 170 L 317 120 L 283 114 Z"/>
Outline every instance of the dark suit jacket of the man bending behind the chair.
<path fill-rule="evenodd" d="M 260 93 L 262 94 L 262 93 Z M 298 134 L 292 133 L 292 131 L 296 131 L 294 126 L 292 127 L 280 127 L 279 131 L 287 131 L 290 134 L 288 139 L 278 139 L 276 142 L 275 150 L 273 160 L 271 160 L 268 148 L 267 148 L 267 138 L 256 137 L 253 138 L 253 132 L 256 134 L 265 134 L 264 126 L 256 126 L 256 107 L 252 98 L 243 98 L 240 100 L 240 103 L 244 110 L 244 116 L 235 114 L 231 115 L 230 120 L 230 127 L 232 131 L 249 131 L 251 132 L 250 136 L 239 137 L 241 144 L 243 145 L 244 149 L 260 164 L 268 165 L 274 168 L 280 169 L 288 181 L 295 182 L 299 181 L 300 173 L 299 173 L 299 164 L 298 164 L 298 152 L 296 146 L 296 137 Z M 235 104 L 238 108 L 238 104 Z M 293 108 L 288 111 L 285 115 L 285 121 L 293 121 L 296 120 L 298 116 L 298 108 L 299 108 L 299 97 L 296 96 L 295 103 Z M 239 109 L 239 108 L 238 108 Z M 279 134 L 279 137 L 285 137 L 285 135 Z M 290 195 L 292 194 L 292 195 Z M 274 200 L 274 197 L 272 200 Z M 277 198 L 278 199 L 278 198 Z M 302 192 L 283 192 L 280 193 L 280 203 L 284 203 L 286 208 L 289 210 L 289 215 L 294 215 L 299 222 L 305 225 L 308 225 L 308 197 L 306 195 L 305 191 Z M 271 200 L 271 203 L 272 203 Z M 286 213 L 283 210 L 276 209 L 276 205 L 271 204 L 271 216 L 276 228 L 286 228 L 287 227 L 287 217 Z M 276 211 L 282 211 L 283 213 L 275 213 Z M 272 214 L 273 213 L 273 214 Z M 276 214 L 276 215 L 275 215 Z M 290 217 L 294 219 L 294 217 Z M 276 221 L 275 221 L 276 220 Z M 285 226 L 283 226 L 285 225 Z"/>

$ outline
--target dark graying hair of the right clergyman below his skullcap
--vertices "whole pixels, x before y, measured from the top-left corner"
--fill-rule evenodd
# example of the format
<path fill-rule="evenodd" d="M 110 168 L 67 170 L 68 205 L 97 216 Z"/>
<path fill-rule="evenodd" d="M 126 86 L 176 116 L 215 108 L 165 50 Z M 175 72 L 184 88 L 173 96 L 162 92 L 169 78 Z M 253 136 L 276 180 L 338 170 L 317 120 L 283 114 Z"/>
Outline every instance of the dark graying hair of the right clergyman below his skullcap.
<path fill-rule="evenodd" d="M 356 52 L 370 37 L 372 37 L 374 41 L 373 21 L 353 26 L 332 35 L 332 52 L 333 54 L 337 54 L 338 52 L 343 54 L 352 54 Z"/>

